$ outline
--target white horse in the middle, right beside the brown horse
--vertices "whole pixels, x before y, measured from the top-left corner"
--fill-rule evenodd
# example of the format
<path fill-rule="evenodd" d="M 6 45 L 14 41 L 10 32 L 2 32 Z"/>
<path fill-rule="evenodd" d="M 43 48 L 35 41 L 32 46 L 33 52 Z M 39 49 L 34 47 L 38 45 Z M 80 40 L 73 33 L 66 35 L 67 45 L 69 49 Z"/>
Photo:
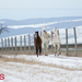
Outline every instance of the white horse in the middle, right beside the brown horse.
<path fill-rule="evenodd" d="M 40 36 L 40 38 L 42 38 L 42 48 L 44 49 L 44 52 L 45 52 L 45 55 L 47 55 L 47 51 L 48 51 L 48 45 L 49 45 L 49 34 L 45 31 L 45 26 L 44 27 L 42 27 L 42 36 Z"/>

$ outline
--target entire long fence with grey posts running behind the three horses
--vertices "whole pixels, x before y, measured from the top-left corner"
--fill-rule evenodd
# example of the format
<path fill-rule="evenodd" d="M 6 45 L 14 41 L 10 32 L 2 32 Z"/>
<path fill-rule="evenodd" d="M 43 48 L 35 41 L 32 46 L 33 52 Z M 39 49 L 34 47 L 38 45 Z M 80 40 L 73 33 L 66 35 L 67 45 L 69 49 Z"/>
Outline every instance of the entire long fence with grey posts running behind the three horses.
<path fill-rule="evenodd" d="M 59 32 L 59 31 L 58 31 Z M 60 32 L 59 32 L 60 34 Z M 66 28 L 66 44 L 61 44 L 61 54 L 67 56 L 81 56 L 82 54 L 82 45 L 77 44 L 77 31 L 73 27 L 73 35 L 74 35 L 74 44 L 68 44 L 68 28 Z M 50 33 L 52 37 L 52 33 Z M 51 40 L 50 37 L 50 40 Z M 62 40 L 62 39 L 61 39 Z M 80 49 L 79 49 L 80 48 Z M 79 54 L 80 52 L 80 54 Z M 22 36 L 14 36 L 14 37 L 7 37 L 0 39 L 0 54 L 1 55 L 21 55 L 21 54 L 35 54 L 35 46 L 34 46 L 34 35 L 22 35 Z M 49 51 L 48 54 L 54 54 L 54 47 L 51 46 L 51 42 L 49 44 Z"/>

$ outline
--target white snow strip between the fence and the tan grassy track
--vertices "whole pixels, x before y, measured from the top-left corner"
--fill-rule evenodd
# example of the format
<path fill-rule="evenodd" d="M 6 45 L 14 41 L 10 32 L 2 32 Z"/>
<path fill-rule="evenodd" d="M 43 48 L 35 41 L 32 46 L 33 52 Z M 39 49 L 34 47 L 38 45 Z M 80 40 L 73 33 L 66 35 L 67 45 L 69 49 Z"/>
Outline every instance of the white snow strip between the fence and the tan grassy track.
<path fill-rule="evenodd" d="M 14 58 L 14 55 L 2 55 L 3 57 L 8 58 Z M 43 63 L 51 63 L 57 67 L 62 67 L 62 68 L 69 68 L 69 69 L 77 69 L 80 70 L 82 69 L 82 58 L 77 58 L 77 57 L 66 57 L 66 56 L 39 56 L 38 58 L 36 56 L 26 56 L 26 55 L 17 55 L 15 56 L 17 59 L 25 59 L 25 60 L 31 60 L 31 61 L 38 61 Z"/>

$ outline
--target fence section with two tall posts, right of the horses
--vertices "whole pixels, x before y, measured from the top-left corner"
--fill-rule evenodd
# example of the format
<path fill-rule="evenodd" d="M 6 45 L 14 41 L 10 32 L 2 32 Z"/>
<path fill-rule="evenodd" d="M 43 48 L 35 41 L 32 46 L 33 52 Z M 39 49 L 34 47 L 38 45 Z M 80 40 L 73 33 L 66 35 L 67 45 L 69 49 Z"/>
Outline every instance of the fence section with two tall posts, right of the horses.
<path fill-rule="evenodd" d="M 63 47 L 66 50 L 61 50 L 62 54 L 67 55 L 67 56 L 79 56 L 81 57 L 82 56 L 82 44 L 78 44 L 77 43 L 77 30 L 75 27 L 72 28 L 73 30 L 73 34 L 72 34 L 72 38 L 74 39 L 73 40 L 73 44 L 69 44 L 68 40 L 71 40 L 69 39 L 69 31 L 68 28 L 66 28 L 66 46 Z"/>

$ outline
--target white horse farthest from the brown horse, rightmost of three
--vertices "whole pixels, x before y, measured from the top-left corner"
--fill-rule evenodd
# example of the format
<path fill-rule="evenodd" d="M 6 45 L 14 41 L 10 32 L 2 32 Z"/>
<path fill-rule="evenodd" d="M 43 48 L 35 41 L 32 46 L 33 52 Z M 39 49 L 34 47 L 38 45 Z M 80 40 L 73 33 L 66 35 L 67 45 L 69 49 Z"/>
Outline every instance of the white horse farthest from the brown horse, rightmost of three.
<path fill-rule="evenodd" d="M 52 34 L 54 34 L 54 37 L 51 38 L 51 45 L 55 47 L 55 56 L 56 54 L 59 56 L 61 40 L 56 27 L 52 30 Z"/>

